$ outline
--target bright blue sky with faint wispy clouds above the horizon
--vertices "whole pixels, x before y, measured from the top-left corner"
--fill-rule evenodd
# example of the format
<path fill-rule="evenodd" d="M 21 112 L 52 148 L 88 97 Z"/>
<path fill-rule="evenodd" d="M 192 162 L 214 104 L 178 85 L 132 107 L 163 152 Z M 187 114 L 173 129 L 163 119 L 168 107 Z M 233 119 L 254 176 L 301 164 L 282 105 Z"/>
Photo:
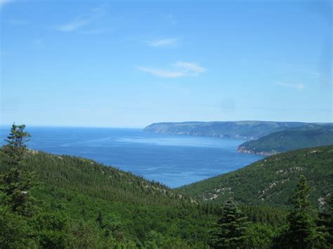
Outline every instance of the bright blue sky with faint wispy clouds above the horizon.
<path fill-rule="evenodd" d="M 0 124 L 332 122 L 332 1 L 0 0 Z"/>

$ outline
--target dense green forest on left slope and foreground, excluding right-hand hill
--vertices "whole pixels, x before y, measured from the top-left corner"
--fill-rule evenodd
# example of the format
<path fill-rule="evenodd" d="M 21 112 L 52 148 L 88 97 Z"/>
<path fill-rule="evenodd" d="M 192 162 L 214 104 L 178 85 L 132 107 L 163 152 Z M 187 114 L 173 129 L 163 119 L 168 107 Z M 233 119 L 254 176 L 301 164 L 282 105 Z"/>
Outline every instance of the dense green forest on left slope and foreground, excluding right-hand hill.
<path fill-rule="evenodd" d="M 95 161 L 28 150 L 24 128 L 13 125 L 0 149 L 0 248 L 332 245 L 332 198 L 322 212 L 313 210 L 305 177 L 289 215 L 283 208 L 237 205 L 233 199 L 224 206 L 202 204 Z M 306 206 L 303 213 L 299 206 Z M 298 241 L 290 240 L 293 234 Z"/>

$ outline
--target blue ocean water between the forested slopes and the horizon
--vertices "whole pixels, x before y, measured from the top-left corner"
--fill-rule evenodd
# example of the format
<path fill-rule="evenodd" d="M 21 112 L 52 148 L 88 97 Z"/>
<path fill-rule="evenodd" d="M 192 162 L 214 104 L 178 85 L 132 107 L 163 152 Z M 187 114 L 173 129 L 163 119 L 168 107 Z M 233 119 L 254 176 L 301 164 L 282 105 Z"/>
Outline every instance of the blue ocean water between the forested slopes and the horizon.
<path fill-rule="evenodd" d="M 9 133 L 1 126 L 0 144 Z M 188 135 L 143 133 L 124 128 L 29 127 L 29 147 L 53 154 L 93 159 L 142 175 L 149 180 L 179 187 L 227 173 L 263 156 L 241 154 L 244 140 Z"/>

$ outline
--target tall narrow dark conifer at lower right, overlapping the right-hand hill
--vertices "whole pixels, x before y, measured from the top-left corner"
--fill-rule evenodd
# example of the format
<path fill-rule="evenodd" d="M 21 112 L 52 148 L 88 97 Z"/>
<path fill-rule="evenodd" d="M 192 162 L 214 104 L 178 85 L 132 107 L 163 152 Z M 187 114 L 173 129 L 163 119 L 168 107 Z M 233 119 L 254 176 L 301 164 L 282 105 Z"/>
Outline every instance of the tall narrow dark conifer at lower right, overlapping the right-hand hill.
<path fill-rule="evenodd" d="M 315 224 L 311 218 L 311 206 L 308 194 L 311 188 L 306 177 L 301 178 L 292 196 L 293 209 L 287 216 L 287 243 L 289 248 L 311 248 L 315 238 Z"/>

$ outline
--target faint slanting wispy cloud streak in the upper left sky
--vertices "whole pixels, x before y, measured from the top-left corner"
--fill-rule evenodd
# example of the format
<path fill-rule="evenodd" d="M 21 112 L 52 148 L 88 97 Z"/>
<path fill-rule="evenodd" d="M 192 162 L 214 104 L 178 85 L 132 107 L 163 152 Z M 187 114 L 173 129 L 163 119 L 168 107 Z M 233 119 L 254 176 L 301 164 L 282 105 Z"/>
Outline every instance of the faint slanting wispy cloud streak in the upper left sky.
<path fill-rule="evenodd" d="M 89 13 L 89 15 L 74 18 L 74 20 L 70 22 L 57 25 L 55 26 L 55 29 L 60 32 L 74 32 L 81 27 L 85 27 L 86 25 L 91 24 L 91 22 L 95 21 L 96 19 L 103 17 L 103 15 L 105 15 L 104 8 L 93 8 L 91 9 L 91 13 Z"/>

